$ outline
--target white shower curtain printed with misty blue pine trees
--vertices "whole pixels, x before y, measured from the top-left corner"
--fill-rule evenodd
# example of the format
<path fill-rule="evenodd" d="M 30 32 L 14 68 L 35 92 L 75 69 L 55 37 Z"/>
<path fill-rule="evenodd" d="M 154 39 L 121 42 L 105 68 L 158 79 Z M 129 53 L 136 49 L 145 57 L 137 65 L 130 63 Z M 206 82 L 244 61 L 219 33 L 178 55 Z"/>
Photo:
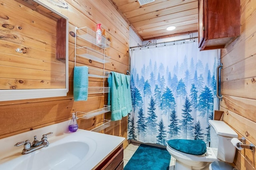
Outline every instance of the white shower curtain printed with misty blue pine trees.
<path fill-rule="evenodd" d="M 131 49 L 132 112 L 128 139 L 166 145 L 174 138 L 210 141 L 208 120 L 218 109 L 218 50 L 198 42 Z"/>

